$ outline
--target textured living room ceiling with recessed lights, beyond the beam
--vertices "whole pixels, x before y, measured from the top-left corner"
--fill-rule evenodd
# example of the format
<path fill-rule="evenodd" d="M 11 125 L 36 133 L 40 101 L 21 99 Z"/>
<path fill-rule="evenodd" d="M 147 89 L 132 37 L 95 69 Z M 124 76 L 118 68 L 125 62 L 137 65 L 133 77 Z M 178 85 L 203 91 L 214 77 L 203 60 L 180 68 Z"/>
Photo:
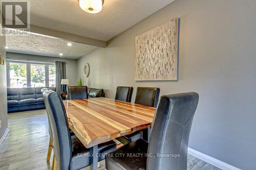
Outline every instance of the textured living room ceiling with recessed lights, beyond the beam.
<path fill-rule="evenodd" d="M 96 48 L 75 42 L 71 42 L 72 46 L 68 46 L 68 42 L 59 38 L 35 34 L 6 36 L 7 52 L 13 53 L 78 59 Z M 63 56 L 59 56 L 59 53 L 62 53 Z"/>

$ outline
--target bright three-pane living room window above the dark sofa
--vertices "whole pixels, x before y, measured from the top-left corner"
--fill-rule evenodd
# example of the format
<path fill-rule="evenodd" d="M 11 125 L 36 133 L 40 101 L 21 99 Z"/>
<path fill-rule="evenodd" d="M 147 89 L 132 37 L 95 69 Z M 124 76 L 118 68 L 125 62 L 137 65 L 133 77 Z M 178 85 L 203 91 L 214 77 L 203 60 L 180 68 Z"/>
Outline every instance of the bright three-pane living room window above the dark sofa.
<path fill-rule="evenodd" d="M 7 86 L 55 87 L 55 64 L 7 61 Z"/>

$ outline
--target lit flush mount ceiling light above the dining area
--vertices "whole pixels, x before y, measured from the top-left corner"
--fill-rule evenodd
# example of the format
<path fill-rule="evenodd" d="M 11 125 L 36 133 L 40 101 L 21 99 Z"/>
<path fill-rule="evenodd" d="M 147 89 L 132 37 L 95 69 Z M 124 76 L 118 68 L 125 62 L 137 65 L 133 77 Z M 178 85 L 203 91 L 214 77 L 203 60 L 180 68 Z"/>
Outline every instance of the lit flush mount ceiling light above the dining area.
<path fill-rule="evenodd" d="M 79 6 L 83 11 L 98 13 L 102 10 L 104 0 L 78 0 Z"/>

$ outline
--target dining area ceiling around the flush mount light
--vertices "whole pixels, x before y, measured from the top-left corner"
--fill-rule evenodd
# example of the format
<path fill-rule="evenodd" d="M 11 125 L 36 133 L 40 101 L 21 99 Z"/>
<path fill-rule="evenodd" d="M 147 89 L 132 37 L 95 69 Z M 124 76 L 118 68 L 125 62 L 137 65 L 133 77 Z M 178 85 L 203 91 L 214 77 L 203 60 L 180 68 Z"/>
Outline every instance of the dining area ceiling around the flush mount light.
<path fill-rule="evenodd" d="M 101 12 L 90 14 L 77 0 L 33 0 L 31 24 L 107 41 L 173 1 L 105 0 Z"/>

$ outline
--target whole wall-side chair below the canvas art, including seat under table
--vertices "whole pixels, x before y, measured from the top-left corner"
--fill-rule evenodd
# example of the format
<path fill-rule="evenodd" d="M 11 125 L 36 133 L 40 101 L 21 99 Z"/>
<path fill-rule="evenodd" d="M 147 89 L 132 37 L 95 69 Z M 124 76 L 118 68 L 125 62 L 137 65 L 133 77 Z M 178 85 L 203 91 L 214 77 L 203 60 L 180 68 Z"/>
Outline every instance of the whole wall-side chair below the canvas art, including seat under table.
<path fill-rule="evenodd" d="M 159 93 L 160 88 L 157 87 L 137 87 L 135 103 L 149 107 L 157 107 Z M 140 130 L 129 135 L 120 136 L 116 139 L 121 143 L 126 144 L 136 139 L 143 138 L 143 136 L 146 138 L 147 135 L 147 130 Z"/>

